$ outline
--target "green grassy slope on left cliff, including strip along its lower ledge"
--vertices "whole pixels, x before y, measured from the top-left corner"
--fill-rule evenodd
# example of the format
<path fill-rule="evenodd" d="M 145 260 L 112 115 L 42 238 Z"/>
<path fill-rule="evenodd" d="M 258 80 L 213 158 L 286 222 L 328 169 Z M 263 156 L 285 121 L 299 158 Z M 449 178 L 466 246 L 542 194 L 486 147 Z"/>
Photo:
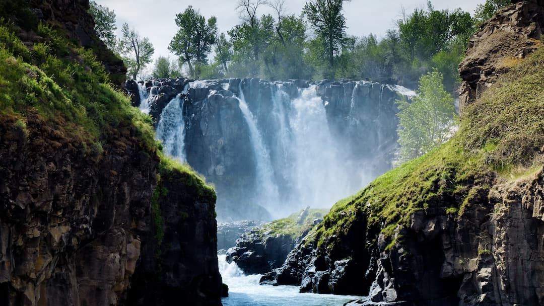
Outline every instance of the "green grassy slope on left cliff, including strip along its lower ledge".
<path fill-rule="evenodd" d="M 30 28 L 36 33 L 32 42 L 23 43 L 16 35 L 20 30 L 0 18 L 1 122 L 14 124 L 31 140 L 33 133 L 44 129 L 30 127 L 46 126 L 59 146 L 71 146 L 95 160 L 104 154 L 103 145 L 123 147 L 115 135 L 136 135 L 129 139 L 160 159 L 159 179 L 180 172 L 183 183 L 197 186 L 199 195 L 215 198 L 214 190 L 189 166 L 165 157 L 154 138 L 151 117 L 113 88 L 92 51 L 67 39 L 62 29 L 38 22 Z"/>

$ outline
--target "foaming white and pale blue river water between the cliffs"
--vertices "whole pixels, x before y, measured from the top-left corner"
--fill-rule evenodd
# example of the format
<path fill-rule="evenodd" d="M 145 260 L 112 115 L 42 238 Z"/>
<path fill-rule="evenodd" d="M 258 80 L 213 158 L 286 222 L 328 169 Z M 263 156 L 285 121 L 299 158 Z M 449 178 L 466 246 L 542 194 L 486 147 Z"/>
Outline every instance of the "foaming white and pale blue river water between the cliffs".
<path fill-rule="evenodd" d="M 228 285 L 224 306 L 341 306 L 357 296 L 299 293 L 296 286 L 259 285 L 261 275 L 245 276 L 236 264 L 228 264 L 225 255 L 218 255 L 219 272 Z"/>

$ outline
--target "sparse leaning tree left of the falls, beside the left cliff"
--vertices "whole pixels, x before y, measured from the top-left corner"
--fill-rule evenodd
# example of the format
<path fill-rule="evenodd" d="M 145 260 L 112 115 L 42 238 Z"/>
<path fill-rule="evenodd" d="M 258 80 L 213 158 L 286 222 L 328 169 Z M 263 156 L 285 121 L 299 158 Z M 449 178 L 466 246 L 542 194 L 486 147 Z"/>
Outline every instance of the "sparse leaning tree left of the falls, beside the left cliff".
<path fill-rule="evenodd" d="M 141 68 L 151 63 L 151 57 L 155 52 L 149 38 L 141 38 L 140 34 L 123 23 L 121 27 L 121 41 L 123 45 L 123 61 L 128 68 L 128 73 L 136 79 Z"/>

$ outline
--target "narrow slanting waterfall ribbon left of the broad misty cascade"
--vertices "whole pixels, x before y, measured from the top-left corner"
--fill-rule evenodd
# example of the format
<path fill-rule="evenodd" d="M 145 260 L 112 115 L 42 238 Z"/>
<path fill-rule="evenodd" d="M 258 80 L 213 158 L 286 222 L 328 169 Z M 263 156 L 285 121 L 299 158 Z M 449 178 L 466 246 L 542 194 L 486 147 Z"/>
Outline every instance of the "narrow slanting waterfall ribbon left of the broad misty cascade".
<path fill-rule="evenodd" d="M 257 204 L 268 209 L 269 213 L 277 213 L 274 210 L 279 202 L 278 188 L 274 182 L 274 169 L 270 163 L 270 154 L 264 144 L 261 132 L 257 128 L 257 121 L 251 113 L 248 103 L 245 101 L 242 84 L 239 86 L 240 110 L 244 115 L 245 122 L 248 124 L 251 146 L 254 149 L 256 170 L 257 170 Z"/>

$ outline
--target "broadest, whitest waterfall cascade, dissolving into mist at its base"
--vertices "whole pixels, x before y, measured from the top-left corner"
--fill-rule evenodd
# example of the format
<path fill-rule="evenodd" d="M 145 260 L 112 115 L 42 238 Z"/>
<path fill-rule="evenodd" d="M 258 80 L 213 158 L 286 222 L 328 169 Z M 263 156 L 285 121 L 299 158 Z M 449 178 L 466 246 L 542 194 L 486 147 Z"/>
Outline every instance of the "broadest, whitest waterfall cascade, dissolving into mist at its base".
<path fill-rule="evenodd" d="M 300 89 L 292 101 L 289 123 L 293 132 L 292 155 L 294 168 L 292 184 L 295 186 L 293 202 L 312 207 L 330 207 L 332 203 L 348 196 L 349 171 L 345 160 L 339 158 L 338 143 L 333 139 L 322 98 L 316 86 Z"/>

